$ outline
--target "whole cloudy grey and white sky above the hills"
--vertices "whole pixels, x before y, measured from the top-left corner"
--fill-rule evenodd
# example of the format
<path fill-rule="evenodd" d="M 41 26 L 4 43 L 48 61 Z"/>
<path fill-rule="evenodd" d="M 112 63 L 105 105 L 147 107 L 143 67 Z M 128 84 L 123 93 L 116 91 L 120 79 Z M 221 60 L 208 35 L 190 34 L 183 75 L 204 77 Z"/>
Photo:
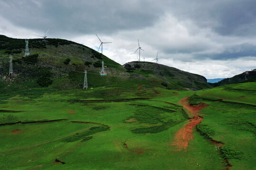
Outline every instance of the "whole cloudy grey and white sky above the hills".
<path fill-rule="evenodd" d="M 206 78 L 256 68 L 256 0 L 0 0 L 0 34 L 82 43 L 125 64 L 152 61 Z"/>

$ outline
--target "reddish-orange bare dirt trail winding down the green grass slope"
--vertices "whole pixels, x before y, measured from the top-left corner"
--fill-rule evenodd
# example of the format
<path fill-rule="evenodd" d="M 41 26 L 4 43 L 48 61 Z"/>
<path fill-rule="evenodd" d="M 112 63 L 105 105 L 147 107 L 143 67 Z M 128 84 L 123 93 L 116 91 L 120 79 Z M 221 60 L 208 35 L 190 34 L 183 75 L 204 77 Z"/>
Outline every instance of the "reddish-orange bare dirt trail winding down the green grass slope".
<path fill-rule="evenodd" d="M 177 150 L 183 150 L 188 147 L 189 141 L 193 139 L 193 128 L 196 127 L 197 124 L 200 124 L 203 119 L 199 116 L 198 111 L 208 106 L 204 103 L 199 103 L 196 106 L 190 105 L 188 99 L 188 97 L 184 97 L 180 100 L 179 104 L 193 115 L 193 118 L 190 118 L 190 122 L 176 133 L 174 137 L 175 141 L 171 145 L 176 146 Z"/>

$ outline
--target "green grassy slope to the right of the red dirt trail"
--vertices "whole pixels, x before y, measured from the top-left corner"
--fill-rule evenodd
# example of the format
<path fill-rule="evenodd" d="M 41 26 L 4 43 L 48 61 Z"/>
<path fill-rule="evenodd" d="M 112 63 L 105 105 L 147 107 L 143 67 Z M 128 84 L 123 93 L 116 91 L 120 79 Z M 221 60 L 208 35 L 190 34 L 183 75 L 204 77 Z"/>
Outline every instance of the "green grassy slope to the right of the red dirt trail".
<path fill-rule="evenodd" d="M 232 170 L 254 169 L 256 153 L 256 83 L 225 85 L 197 92 L 199 99 L 191 102 L 210 104 L 201 110 L 202 125 L 213 130 L 210 136 L 233 151 L 240 159 L 229 159 Z M 213 102 L 205 97 L 223 99 Z M 228 102 L 226 102 L 228 101 Z M 251 104 L 251 105 L 248 105 Z M 210 131 L 207 131 L 209 133 Z"/>

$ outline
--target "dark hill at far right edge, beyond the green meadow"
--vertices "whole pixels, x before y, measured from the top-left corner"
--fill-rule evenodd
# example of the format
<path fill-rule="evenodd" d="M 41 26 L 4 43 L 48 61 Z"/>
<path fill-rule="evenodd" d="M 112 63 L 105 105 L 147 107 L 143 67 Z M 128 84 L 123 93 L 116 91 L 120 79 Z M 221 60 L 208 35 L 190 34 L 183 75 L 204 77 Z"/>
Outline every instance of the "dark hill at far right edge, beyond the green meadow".
<path fill-rule="evenodd" d="M 252 71 L 246 71 L 242 74 L 233 76 L 231 78 L 225 78 L 218 83 L 209 83 L 211 86 L 216 87 L 219 85 L 229 85 L 237 83 L 256 82 L 256 69 Z"/>

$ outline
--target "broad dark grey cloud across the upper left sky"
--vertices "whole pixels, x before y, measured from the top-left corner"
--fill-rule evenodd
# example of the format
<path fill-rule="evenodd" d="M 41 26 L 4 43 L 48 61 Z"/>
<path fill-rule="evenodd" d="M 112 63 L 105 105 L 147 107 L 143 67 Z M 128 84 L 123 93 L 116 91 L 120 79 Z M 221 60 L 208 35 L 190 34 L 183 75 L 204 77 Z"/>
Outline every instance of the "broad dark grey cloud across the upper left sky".
<path fill-rule="evenodd" d="M 0 4 L 4 7 L 0 15 L 12 24 L 40 31 L 51 27 L 54 34 L 140 29 L 151 26 L 162 13 L 154 3 L 138 0 L 6 0 Z"/>

